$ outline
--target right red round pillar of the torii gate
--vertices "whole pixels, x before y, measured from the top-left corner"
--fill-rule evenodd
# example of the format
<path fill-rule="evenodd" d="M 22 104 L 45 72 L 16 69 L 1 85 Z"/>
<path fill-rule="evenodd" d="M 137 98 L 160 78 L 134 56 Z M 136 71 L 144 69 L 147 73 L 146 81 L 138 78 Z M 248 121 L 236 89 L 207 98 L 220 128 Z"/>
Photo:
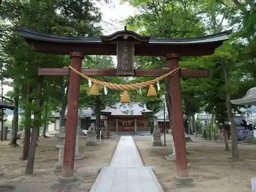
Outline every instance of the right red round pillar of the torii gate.
<path fill-rule="evenodd" d="M 172 53 L 166 55 L 168 68 L 173 71 L 179 67 L 179 54 Z M 180 71 L 169 78 L 170 97 L 172 98 L 172 120 L 173 139 L 176 152 L 177 185 L 194 185 L 193 178 L 188 177 L 187 155 L 185 144 L 185 127 L 183 123 L 182 99 L 180 86 Z"/>

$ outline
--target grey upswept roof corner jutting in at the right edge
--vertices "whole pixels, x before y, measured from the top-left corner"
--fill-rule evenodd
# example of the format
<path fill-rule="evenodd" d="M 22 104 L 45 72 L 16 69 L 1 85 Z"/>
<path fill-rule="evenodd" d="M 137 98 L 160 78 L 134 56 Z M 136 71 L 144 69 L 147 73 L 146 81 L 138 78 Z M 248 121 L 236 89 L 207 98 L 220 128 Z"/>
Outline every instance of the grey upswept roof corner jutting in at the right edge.
<path fill-rule="evenodd" d="M 230 102 L 240 105 L 256 105 L 256 87 L 249 89 L 244 97 L 230 100 Z"/>

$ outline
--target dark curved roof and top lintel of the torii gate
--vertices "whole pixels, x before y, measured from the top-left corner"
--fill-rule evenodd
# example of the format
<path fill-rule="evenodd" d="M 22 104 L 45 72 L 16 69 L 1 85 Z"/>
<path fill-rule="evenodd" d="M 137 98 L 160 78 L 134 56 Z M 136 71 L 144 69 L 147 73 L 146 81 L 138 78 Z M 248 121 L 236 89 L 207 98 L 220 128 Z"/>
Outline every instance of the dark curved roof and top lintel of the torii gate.
<path fill-rule="evenodd" d="M 119 41 L 134 43 L 136 56 L 166 56 L 179 53 L 180 56 L 203 56 L 214 53 L 223 41 L 227 40 L 231 30 L 193 38 L 151 38 L 133 31 L 117 31 L 100 37 L 74 37 L 55 35 L 16 27 L 20 37 L 32 45 L 33 50 L 43 53 L 68 55 L 81 52 L 85 55 L 117 55 L 116 44 Z"/>

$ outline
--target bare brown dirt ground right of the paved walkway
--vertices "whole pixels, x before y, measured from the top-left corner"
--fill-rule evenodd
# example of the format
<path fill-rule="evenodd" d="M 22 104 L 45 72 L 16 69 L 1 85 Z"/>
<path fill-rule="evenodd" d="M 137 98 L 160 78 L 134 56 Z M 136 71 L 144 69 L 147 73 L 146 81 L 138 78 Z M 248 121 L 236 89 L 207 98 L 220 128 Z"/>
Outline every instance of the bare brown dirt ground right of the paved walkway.
<path fill-rule="evenodd" d="M 144 164 L 156 166 L 156 176 L 166 192 L 250 192 L 250 178 L 256 176 L 255 146 L 239 145 L 242 161 L 232 162 L 231 152 L 224 151 L 223 143 L 193 142 L 187 143 L 187 152 L 189 176 L 196 186 L 176 188 L 176 162 L 164 158 L 172 151 L 171 144 L 152 147 L 151 142 L 136 141 L 136 145 Z"/>

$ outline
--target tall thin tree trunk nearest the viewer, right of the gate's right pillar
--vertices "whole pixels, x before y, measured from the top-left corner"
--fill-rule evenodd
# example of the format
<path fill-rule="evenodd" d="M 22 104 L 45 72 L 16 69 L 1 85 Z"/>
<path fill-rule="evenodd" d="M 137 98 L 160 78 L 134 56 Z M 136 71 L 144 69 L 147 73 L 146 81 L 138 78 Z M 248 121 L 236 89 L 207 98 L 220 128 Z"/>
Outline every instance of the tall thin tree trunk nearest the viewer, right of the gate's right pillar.
<path fill-rule="evenodd" d="M 234 122 L 234 118 L 233 118 L 232 106 L 231 106 L 231 102 L 230 102 L 230 91 L 229 91 L 229 87 L 228 87 L 228 84 L 229 84 L 229 70 L 227 68 L 227 65 L 226 65 L 224 59 L 222 59 L 221 66 L 222 66 L 224 76 L 225 76 L 227 114 L 228 114 L 229 121 L 231 122 L 230 133 L 231 133 L 232 159 L 233 159 L 233 161 L 239 161 L 240 156 L 239 156 L 238 143 L 237 143 L 237 134 L 236 134 L 237 129 L 236 129 L 236 123 Z"/>

